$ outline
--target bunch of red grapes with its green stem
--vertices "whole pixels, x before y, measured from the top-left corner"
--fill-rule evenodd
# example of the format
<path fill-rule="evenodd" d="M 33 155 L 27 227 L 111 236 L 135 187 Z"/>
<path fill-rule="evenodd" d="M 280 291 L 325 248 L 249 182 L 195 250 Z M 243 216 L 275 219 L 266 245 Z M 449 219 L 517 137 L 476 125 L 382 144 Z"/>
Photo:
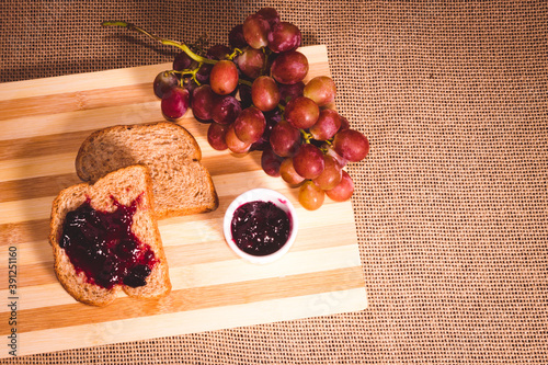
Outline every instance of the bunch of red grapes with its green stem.
<path fill-rule="evenodd" d="M 182 52 L 173 69 L 160 72 L 153 91 L 168 121 L 192 110 L 209 124 L 207 140 L 216 150 L 241 155 L 260 151 L 261 166 L 298 187 L 299 203 L 319 208 L 328 195 L 343 202 L 354 183 L 343 169 L 363 160 L 368 139 L 332 109 L 336 88 L 327 76 L 304 82 L 308 59 L 298 50 L 299 28 L 263 8 L 236 25 L 229 46 L 191 49 L 133 24 L 106 22 L 144 33 Z"/>

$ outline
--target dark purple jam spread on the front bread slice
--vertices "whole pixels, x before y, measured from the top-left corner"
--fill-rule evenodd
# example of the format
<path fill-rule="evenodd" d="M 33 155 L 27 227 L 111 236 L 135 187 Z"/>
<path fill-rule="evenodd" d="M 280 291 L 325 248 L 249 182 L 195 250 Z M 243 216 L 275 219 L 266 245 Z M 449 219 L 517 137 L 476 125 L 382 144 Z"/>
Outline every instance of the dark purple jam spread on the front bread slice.
<path fill-rule="evenodd" d="M 116 210 L 100 212 L 88 198 L 67 214 L 59 246 L 77 272 L 104 288 L 144 286 L 157 260 L 152 249 L 132 232 L 137 197 L 129 206 L 114 199 Z"/>

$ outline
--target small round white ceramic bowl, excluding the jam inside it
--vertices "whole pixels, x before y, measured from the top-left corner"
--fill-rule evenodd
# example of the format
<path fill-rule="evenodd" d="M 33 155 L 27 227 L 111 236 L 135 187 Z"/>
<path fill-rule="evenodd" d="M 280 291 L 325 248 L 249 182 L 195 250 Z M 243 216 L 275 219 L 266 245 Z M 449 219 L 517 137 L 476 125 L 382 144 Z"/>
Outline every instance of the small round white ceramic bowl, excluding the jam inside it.
<path fill-rule="evenodd" d="M 232 232 L 230 229 L 230 224 L 232 221 L 233 214 L 238 207 L 240 207 L 242 204 L 249 203 L 249 202 L 255 202 L 255 201 L 262 201 L 262 202 L 272 202 L 274 203 L 277 207 L 282 208 L 288 216 L 292 223 L 292 231 L 289 232 L 289 237 L 287 238 L 287 242 L 277 250 L 276 252 L 273 252 L 267 255 L 263 256 L 255 256 L 252 254 L 249 254 L 247 252 L 243 252 L 238 248 L 233 238 L 232 238 Z M 298 231 L 298 221 L 297 221 L 297 214 L 295 212 L 295 207 L 293 206 L 292 202 L 284 195 L 279 194 L 276 191 L 270 190 L 270 189 L 253 189 L 250 191 L 247 191 L 246 193 L 241 194 L 238 196 L 233 202 L 228 206 L 227 212 L 225 213 L 225 221 L 224 221 L 224 231 L 225 231 L 225 239 L 227 240 L 228 246 L 235 251 L 240 258 L 255 264 L 265 264 L 273 262 L 281 256 L 283 256 L 287 251 L 293 246 L 293 242 L 295 242 L 295 238 L 297 237 L 297 231 Z"/>

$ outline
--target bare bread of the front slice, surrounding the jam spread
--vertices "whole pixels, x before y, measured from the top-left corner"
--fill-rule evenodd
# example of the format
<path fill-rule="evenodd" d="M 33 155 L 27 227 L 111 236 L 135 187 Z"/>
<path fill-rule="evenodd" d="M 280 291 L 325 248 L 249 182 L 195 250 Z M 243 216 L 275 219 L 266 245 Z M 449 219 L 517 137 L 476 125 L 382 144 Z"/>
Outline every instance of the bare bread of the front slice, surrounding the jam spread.
<path fill-rule="evenodd" d="M 119 290 L 138 298 L 158 298 L 171 290 L 168 261 L 151 209 L 152 198 L 150 175 L 144 166 L 124 168 L 105 175 L 93 185 L 81 183 L 59 193 L 52 208 L 49 243 L 54 250 L 55 273 L 72 297 L 84 304 L 105 306 L 116 298 Z M 115 202 L 124 206 L 130 206 L 135 202 L 132 232 L 152 250 L 157 260 L 144 286 L 114 285 L 107 289 L 90 282 L 84 272 L 75 267 L 67 251 L 61 248 L 60 240 L 67 214 L 87 201 L 93 209 L 109 213 L 118 208 Z"/>

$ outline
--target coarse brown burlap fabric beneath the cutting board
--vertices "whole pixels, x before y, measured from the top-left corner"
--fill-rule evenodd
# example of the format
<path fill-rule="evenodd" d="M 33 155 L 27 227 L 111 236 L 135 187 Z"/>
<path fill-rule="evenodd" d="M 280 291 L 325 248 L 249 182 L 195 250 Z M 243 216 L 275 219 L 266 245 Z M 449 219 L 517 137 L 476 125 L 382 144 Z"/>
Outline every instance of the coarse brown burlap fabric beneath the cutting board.
<path fill-rule="evenodd" d="M 11 363 L 547 364 L 546 2 L 3 0 L 0 80 L 172 59 L 104 20 L 215 43 L 265 4 L 328 46 L 370 139 L 351 166 L 369 308 Z"/>

